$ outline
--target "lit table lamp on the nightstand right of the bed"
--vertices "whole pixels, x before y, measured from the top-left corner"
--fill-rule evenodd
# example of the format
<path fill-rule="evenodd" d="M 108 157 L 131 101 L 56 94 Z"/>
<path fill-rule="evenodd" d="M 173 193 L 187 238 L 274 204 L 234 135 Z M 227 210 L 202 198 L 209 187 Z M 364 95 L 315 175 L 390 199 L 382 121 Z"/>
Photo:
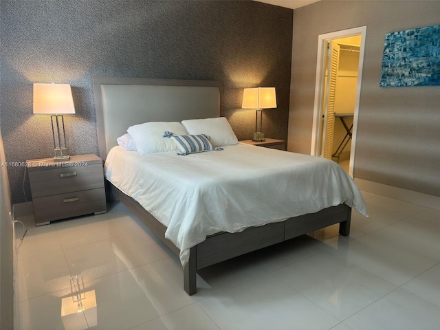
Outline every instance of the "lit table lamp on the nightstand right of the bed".
<path fill-rule="evenodd" d="M 242 109 L 256 109 L 255 133 L 252 141 L 265 141 L 263 128 L 263 109 L 276 108 L 275 87 L 245 88 L 243 92 Z"/>

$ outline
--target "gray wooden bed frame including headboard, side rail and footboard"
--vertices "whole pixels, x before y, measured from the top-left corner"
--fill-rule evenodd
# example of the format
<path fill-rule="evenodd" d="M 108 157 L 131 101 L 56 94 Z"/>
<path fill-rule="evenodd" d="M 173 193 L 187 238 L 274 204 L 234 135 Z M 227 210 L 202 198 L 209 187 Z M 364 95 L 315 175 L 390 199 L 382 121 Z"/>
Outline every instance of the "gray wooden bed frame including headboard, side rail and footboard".
<path fill-rule="evenodd" d="M 93 78 L 93 82 L 98 146 L 102 159 L 107 157 L 107 152 L 116 144 L 116 138 L 126 133 L 126 129 L 133 124 L 140 124 L 147 121 L 181 121 L 185 119 L 212 118 L 217 117 L 220 113 L 222 91 L 221 83 L 217 81 L 95 77 Z M 109 94 L 109 91 L 106 90 L 106 85 L 111 85 L 112 92 L 115 91 L 113 87 L 117 90 L 118 86 L 121 86 L 122 89 L 129 86 L 140 87 L 141 89 L 145 87 L 146 91 L 144 92 L 142 89 L 142 92 L 139 93 L 139 91 L 137 91 L 137 94 L 135 93 L 136 95 L 140 95 L 141 100 L 134 102 L 135 106 L 133 109 L 131 109 L 133 94 L 129 92 L 129 96 L 126 98 L 130 100 L 127 101 L 127 104 L 120 104 L 120 100 L 121 98 L 124 99 L 124 96 L 121 96 L 118 91 L 118 95 L 115 99 L 115 103 L 118 104 L 115 105 L 114 109 L 111 109 L 113 102 L 106 99 L 108 95 L 104 95 Z M 162 87 L 165 89 L 164 93 L 162 93 Z M 171 87 L 170 94 L 172 96 L 170 97 L 166 96 L 168 87 Z M 174 87 L 177 87 L 177 94 L 176 90 L 173 89 Z M 180 87 L 184 87 L 183 91 Z M 186 87 L 190 88 L 188 89 Z M 202 87 L 201 92 L 200 87 Z M 208 87 L 208 89 L 205 87 Z M 153 88 L 153 90 L 150 91 L 150 88 Z M 161 89 L 159 93 L 157 93 L 157 88 Z M 192 88 L 195 88 L 195 91 L 193 91 Z M 182 106 L 182 102 L 186 102 L 185 96 L 182 96 L 182 94 L 186 94 L 186 91 L 188 91 L 188 102 L 190 103 L 188 111 Z M 207 91 L 206 95 L 204 95 L 205 91 Z M 212 91 L 214 91 L 214 93 L 212 93 Z M 158 98 L 165 96 L 165 99 L 155 99 L 156 94 L 159 94 Z M 195 94 L 201 95 L 201 98 L 206 98 L 206 100 L 202 100 L 200 104 L 195 104 Z M 175 98 L 175 95 L 179 95 L 179 97 Z M 183 99 L 181 97 L 183 97 Z M 151 98 L 154 100 L 150 100 Z M 165 107 L 170 107 L 173 111 L 166 113 L 163 109 L 158 111 L 153 109 L 158 102 L 162 104 L 162 101 L 169 103 L 166 104 Z M 139 104 L 143 105 L 145 109 L 137 109 L 139 108 Z M 135 113 L 138 111 L 148 112 L 150 108 L 153 109 L 155 113 L 150 113 L 146 116 L 131 114 L 131 111 Z M 195 108 L 199 108 L 199 110 L 197 110 L 198 112 L 195 112 Z M 117 114 L 118 111 L 122 111 L 121 109 L 123 109 L 123 118 L 118 117 Z M 112 115 L 116 115 L 117 117 L 114 120 L 115 122 L 113 122 Z M 140 203 L 137 203 L 137 201 L 125 195 L 118 188 L 109 183 L 109 181 L 107 181 L 106 184 L 109 196 L 112 195 L 124 203 L 129 210 L 139 217 L 151 231 L 179 256 L 179 249 L 171 241 L 165 239 L 166 227 L 162 223 L 148 213 Z M 208 267 L 276 243 L 281 243 L 335 223 L 340 223 L 340 234 L 348 236 L 350 232 L 350 219 L 351 208 L 345 204 L 341 204 L 320 210 L 313 214 L 290 218 L 286 221 L 248 228 L 243 230 L 243 232 L 233 234 L 219 232 L 210 235 L 205 241 L 190 249 L 189 261 L 184 267 L 184 289 L 189 295 L 197 292 L 197 270 L 203 267 Z"/>

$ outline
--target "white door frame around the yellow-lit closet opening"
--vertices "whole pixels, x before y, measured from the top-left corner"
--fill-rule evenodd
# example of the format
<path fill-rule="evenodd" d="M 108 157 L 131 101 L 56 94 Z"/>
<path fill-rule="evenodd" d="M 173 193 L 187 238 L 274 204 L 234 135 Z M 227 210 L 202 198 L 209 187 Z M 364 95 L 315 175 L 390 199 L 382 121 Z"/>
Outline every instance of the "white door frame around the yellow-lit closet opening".
<path fill-rule="evenodd" d="M 325 56 L 327 52 L 327 41 L 334 39 L 346 38 L 349 36 L 361 36 L 359 65 L 358 65 L 358 83 L 356 85 L 356 97 L 355 97 L 355 109 L 353 115 L 353 131 L 351 133 L 351 151 L 350 151 L 350 164 L 349 175 L 353 177 L 353 166 L 355 160 L 355 146 L 356 146 L 356 133 L 358 131 L 358 114 L 359 114 L 359 102 L 360 102 L 360 90 L 362 84 L 362 68 L 364 66 L 364 50 L 365 50 L 365 37 L 366 26 L 360 26 L 358 28 L 352 28 L 347 30 L 340 30 L 336 32 L 330 32 L 320 34 L 318 36 L 318 59 L 316 61 L 316 86 L 315 86 L 315 101 L 314 101 L 314 119 L 311 131 L 311 155 L 318 155 L 320 142 L 320 118 L 322 113 L 322 91 L 325 88 Z"/>

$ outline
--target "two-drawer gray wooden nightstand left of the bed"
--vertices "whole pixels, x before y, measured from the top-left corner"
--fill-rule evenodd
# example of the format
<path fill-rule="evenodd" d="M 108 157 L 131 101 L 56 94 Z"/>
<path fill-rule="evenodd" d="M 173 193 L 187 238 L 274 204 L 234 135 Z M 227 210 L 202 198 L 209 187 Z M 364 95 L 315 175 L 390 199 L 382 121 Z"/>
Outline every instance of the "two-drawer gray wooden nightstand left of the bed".
<path fill-rule="evenodd" d="M 30 159 L 28 174 L 36 225 L 107 212 L 102 159 L 96 155 Z"/>

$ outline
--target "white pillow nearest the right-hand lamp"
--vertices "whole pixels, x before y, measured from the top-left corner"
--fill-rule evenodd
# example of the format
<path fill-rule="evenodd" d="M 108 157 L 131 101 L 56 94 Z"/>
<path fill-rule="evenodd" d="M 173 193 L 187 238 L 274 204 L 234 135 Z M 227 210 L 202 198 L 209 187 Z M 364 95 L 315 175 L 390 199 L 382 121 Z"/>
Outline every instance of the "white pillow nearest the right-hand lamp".
<path fill-rule="evenodd" d="M 184 120 L 181 123 L 184 124 L 190 135 L 208 135 L 214 146 L 228 146 L 239 143 L 231 125 L 224 117 Z"/>

